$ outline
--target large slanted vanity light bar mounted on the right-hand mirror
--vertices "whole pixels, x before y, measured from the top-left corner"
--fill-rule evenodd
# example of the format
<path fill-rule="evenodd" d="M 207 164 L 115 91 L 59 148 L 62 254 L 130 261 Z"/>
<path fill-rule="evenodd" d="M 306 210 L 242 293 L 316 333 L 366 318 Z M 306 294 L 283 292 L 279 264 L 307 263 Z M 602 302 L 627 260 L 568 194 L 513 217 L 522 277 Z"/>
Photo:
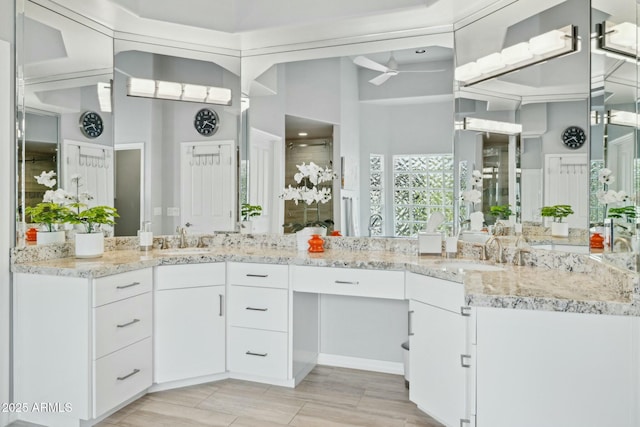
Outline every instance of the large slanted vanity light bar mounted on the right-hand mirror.
<path fill-rule="evenodd" d="M 578 27 L 567 25 L 460 65 L 455 79 L 462 86 L 471 86 L 578 50 Z"/>

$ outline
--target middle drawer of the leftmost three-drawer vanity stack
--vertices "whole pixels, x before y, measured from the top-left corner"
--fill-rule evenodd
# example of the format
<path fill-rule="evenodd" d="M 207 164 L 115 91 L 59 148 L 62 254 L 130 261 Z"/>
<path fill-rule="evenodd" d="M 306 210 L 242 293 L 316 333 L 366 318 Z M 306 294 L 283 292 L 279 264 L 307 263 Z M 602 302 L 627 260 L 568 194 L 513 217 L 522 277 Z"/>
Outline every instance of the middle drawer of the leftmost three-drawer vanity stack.
<path fill-rule="evenodd" d="M 147 292 L 95 308 L 94 358 L 150 337 L 151 304 L 151 292 Z"/>

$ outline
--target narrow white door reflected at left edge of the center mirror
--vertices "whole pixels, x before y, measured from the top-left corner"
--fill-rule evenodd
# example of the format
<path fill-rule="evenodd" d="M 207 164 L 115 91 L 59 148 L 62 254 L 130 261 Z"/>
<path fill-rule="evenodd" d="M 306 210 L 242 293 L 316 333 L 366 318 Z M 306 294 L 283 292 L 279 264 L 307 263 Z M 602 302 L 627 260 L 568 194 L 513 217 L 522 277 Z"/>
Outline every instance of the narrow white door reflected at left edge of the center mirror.
<path fill-rule="evenodd" d="M 249 138 L 249 204 L 262 206 L 253 219 L 253 232 L 278 233 L 284 203 L 278 198 L 284 188 L 282 138 L 252 128 Z"/>

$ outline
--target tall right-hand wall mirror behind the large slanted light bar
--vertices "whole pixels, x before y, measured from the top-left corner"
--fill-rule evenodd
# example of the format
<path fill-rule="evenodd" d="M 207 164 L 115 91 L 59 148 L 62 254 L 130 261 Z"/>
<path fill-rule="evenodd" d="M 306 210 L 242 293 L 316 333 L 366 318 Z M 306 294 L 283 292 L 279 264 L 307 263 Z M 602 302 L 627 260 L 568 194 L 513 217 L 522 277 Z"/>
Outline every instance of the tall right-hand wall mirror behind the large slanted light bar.
<path fill-rule="evenodd" d="M 473 185 L 474 170 L 484 178 L 482 203 L 462 204 L 463 219 L 482 210 L 491 222 L 490 207 L 508 204 L 518 221 L 535 224 L 541 222 L 542 206 L 568 204 L 574 242 L 587 245 L 589 12 L 580 0 L 523 0 L 456 31 L 455 152 L 465 171 L 461 188 Z M 544 61 L 542 48 L 522 54 L 521 43 L 533 51 L 540 40 L 534 38 L 554 30 L 569 39 L 570 26 L 577 36 L 575 51 Z M 563 48 L 562 34 L 556 37 L 560 46 L 550 48 L 554 53 Z M 470 63 L 478 69 L 463 68 Z M 584 131 L 586 140 L 563 139 L 569 128 Z"/>

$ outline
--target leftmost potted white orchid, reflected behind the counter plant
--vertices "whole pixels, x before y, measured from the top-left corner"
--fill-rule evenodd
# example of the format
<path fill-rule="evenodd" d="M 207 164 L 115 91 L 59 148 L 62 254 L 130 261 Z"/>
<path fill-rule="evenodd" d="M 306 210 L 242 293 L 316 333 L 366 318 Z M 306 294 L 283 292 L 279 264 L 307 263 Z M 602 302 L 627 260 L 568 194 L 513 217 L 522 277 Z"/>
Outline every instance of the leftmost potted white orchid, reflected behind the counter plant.
<path fill-rule="evenodd" d="M 63 189 L 52 190 L 56 185 L 54 171 L 42 173 L 36 176 L 36 182 L 49 188 L 44 193 L 42 202 L 35 206 L 28 206 L 25 213 L 31 217 L 31 222 L 40 224 L 36 234 L 36 244 L 64 243 L 65 233 L 62 224 L 67 221 L 71 213 L 65 206 L 68 194 Z"/>

